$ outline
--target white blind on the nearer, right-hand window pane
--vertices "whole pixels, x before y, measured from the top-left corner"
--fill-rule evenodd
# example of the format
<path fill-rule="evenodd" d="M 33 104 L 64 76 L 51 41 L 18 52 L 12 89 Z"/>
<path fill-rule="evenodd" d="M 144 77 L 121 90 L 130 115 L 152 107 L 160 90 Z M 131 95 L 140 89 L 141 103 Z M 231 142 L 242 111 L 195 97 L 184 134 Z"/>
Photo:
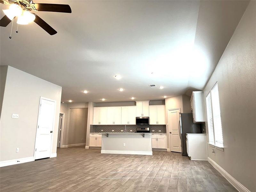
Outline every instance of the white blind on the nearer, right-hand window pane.
<path fill-rule="evenodd" d="M 212 93 L 212 116 L 213 116 L 213 124 L 214 124 L 215 145 L 219 147 L 223 147 L 218 84 L 214 85 L 211 93 Z"/>

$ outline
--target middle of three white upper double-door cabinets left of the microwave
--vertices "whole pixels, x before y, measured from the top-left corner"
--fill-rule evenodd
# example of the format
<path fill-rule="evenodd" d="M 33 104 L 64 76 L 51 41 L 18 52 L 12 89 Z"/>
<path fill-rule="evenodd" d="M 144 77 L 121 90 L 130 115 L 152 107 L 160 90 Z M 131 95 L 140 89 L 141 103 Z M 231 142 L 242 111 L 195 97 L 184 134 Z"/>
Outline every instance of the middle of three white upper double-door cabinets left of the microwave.
<path fill-rule="evenodd" d="M 121 107 L 108 107 L 107 108 L 107 124 L 120 125 L 121 124 Z"/>

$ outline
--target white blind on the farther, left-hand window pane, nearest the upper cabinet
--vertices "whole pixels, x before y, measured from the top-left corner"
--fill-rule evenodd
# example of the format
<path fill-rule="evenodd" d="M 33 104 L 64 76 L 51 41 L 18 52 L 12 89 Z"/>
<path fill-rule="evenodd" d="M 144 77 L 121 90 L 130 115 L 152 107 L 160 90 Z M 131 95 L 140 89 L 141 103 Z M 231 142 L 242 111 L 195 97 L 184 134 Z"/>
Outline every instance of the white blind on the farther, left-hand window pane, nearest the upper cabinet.
<path fill-rule="evenodd" d="M 209 93 L 206 96 L 206 112 L 207 112 L 207 125 L 208 125 L 208 134 L 209 134 L 209 143 L 214 144 L 211 93 Z"/>

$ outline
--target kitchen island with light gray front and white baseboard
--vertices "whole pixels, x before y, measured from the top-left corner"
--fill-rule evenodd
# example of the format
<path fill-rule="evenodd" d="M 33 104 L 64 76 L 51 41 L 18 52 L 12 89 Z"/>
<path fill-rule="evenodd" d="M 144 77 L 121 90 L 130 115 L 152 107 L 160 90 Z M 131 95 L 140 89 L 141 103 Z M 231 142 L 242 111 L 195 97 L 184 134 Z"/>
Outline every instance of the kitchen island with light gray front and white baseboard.
<path fill-rule="evenodd" d="M 101 153 L 152 155 L 151 133 L 101 133 Z"/>

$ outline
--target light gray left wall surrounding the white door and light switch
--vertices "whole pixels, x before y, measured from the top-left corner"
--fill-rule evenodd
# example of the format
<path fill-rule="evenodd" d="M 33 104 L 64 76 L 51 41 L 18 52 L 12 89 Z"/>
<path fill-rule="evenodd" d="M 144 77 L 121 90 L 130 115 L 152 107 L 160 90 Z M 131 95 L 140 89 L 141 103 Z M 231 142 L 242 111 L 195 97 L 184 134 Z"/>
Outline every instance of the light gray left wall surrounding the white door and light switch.
<path fill-rule="evenodd" d="M 56 100 L 52 154 L 56 153 L 61 87 L 8 66 L 2 114 L 1 161 L 34 156 L 40 96 Z M 19 114 L 13 119 L 12 113 Z M 19 147 L 19 153 L 16 148 Z"/>

